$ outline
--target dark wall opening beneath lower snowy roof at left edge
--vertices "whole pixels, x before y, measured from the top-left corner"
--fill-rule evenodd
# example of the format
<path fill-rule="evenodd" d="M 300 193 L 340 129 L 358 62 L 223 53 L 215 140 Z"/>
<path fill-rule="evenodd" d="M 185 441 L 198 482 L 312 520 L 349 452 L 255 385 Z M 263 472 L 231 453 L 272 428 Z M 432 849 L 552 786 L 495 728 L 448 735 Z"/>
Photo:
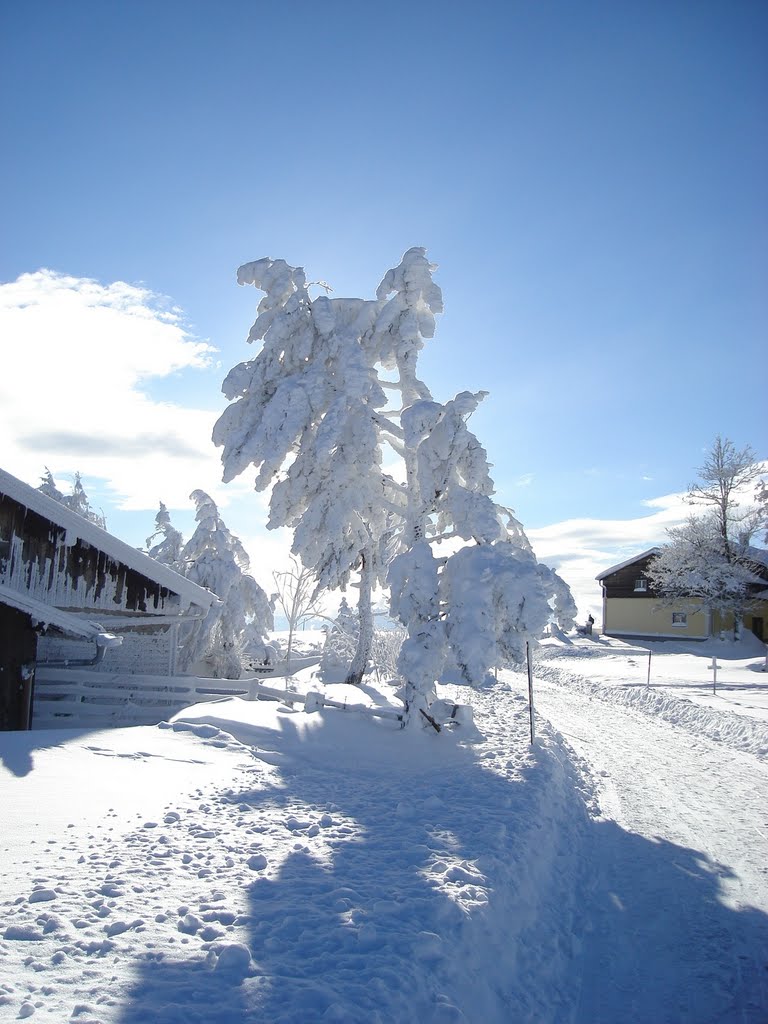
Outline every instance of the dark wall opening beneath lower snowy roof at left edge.
<path fill-rule="evenodd" d="M 0 604 L 0 731 L 29 729 L 37 634 L 29 615 Z"/>

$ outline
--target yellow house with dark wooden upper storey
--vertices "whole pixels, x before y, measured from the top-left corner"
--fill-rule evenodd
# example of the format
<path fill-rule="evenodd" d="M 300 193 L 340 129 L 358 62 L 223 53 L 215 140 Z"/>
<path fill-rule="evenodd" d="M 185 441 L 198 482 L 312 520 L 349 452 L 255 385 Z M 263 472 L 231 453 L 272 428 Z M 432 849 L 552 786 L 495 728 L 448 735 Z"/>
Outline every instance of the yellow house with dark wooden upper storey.
<path fill-rule="evenodd" d="M 662 601 L 646 575 L 648 562 L 658 550 L 649 548 L 596 577 L 603 592 L 602 632 L 614 637 L 706 640 L 723 630 L 732 630 L 732 614 L 712 611 L 696 598 L 675 604 Z M 765 586 L 768 587 L 768 581 Z M 756 587 L 755 599 L 743 615 L 742 625 L 765 640 L 767 617 L 768 590 Z"/>

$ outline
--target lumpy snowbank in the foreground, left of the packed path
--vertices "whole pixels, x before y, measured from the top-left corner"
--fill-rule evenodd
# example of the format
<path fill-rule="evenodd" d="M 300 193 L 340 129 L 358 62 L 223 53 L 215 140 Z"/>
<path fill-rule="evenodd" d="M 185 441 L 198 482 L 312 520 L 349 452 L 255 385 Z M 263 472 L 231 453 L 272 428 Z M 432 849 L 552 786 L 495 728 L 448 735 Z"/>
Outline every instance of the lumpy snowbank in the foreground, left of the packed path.
<path fill-rule="evenodd" d="M 472 743 L 237 699 L 29 734 L 2 776 L 0 1019 L 567 1020 L 581 778 L 528 746 L 522 697 L 476 714 Z"/>

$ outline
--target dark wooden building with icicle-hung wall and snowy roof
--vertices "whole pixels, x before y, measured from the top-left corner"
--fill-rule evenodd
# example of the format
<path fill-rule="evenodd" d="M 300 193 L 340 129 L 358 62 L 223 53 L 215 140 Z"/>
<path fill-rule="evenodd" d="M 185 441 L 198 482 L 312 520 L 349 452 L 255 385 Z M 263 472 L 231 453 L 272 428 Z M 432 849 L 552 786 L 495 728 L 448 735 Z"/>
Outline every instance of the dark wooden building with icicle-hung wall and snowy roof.
<path fill-rule="evenodd" d="M 0 470 L 0 730 L 30 726 L 42 666 L 173 675 L 216 600 Z"/>

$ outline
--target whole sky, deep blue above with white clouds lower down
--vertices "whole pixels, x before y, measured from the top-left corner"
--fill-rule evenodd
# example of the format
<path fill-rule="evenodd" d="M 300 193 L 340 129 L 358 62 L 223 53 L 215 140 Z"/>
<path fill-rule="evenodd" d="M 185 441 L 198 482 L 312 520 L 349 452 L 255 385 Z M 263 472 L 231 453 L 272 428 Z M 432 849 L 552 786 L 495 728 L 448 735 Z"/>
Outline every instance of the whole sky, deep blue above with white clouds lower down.
<path fill-rule="evenodd" d="M 80 0 L 5 4 L 0 37 L 1 461 L 80 469 L 126 540 L 217 486 L 262 256 L 371 296 L 427 247 L 422 376 L 489 392 L 499 498 L 585 610 L 716 433 L 768 456 L 762 2 Z M 266 566 L 248 488 L 217 496 Z"/>

